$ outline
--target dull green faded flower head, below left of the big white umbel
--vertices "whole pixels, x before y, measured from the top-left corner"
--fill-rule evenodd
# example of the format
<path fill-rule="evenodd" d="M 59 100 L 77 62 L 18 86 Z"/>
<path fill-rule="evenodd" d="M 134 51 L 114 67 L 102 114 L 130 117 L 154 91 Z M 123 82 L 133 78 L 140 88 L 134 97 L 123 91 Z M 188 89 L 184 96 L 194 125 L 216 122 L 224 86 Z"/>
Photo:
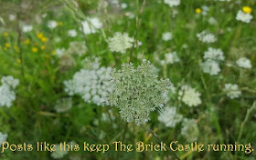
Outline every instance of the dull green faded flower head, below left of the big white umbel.
<path fill-rule="evenodd" d="M 72 107 L 72 98 L 62 98 L 57 101 L 57 104 L 54 106 L 54 109 L 58 113 L 63 113 L 69 111 Z"/>

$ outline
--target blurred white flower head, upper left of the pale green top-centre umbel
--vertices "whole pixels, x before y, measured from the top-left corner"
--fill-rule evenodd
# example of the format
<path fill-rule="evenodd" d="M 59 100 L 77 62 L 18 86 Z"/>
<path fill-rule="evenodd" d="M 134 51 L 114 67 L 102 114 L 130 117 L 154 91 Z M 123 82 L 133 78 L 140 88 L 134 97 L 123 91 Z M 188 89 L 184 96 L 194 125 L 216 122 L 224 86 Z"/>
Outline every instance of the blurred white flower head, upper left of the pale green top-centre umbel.
<path fill-rule="evenodd" d="M 101 29 L 101 20 L 97 17 L 88 18 L 81 22 L 81 30 L 85 35 L 95 34 L 98 29 Z"/>

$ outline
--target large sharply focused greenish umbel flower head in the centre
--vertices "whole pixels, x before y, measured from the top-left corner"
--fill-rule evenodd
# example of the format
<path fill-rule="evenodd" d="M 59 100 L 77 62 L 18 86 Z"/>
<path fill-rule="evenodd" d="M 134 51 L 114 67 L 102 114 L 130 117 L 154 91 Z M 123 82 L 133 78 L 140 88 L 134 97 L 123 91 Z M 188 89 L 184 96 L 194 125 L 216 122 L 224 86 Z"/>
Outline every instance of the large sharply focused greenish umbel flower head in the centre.
<path fill-rule="evenodd" d="M 150 120 L 150 112 L 165 105 L 171 83 L 169 79 L 158 80 L 153 70 L 154 65 L 144 59 L 137 68 L 130 63 L 112 71 L 113 88 L 107 101 L 120 109 L 121 117 L 127 122 L 144 124 Z"/>

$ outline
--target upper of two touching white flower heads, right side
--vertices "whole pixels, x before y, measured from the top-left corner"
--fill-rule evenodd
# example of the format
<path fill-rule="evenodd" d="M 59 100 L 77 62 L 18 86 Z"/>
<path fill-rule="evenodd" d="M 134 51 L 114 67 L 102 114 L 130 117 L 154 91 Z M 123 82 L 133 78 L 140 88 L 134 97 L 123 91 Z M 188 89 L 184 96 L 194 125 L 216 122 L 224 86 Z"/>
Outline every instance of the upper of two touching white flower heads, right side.
<path fill-rule="evenodd" d="M 221 49 L 209 47 L 208 51 L 205 52 L 204 59 L 223 61 L 225 58 Z"/>

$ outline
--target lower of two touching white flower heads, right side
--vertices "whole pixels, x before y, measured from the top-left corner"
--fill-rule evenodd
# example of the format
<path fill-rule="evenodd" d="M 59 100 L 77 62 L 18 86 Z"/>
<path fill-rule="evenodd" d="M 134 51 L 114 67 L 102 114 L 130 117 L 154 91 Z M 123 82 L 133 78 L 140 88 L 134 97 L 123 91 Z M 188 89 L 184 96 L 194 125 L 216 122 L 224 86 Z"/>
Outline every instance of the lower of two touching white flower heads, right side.
<path fill-rule="evenodd" d="M 210 59 L 201 63 L 201 68 L 204 73 L 209 75 L 218 75 L 220 72 L 219 63 Z"/>

